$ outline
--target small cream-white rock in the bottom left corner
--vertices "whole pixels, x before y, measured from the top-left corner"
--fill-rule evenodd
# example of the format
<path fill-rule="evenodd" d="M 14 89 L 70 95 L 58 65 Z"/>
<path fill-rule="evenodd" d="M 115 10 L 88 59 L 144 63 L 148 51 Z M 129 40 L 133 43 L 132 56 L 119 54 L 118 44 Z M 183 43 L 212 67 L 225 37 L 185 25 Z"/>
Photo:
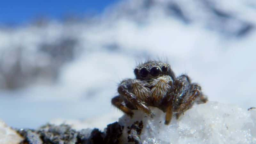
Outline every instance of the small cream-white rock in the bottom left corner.
<path fill-rule="evenodd" d="M 0 120 L 0 144 L 18 144 L 23 138 Z"/>

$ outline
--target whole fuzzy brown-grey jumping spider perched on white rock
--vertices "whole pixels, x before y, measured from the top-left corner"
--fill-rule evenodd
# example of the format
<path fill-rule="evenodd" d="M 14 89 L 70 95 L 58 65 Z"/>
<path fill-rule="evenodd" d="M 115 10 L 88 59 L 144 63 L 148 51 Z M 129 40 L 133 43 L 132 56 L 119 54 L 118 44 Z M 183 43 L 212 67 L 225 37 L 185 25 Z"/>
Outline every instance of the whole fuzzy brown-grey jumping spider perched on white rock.
<path fill-rule="evenodd" d="M 112 104 L 125 114 L 133 116 L 133 109 L 140 109 L 150 117 L 153 106 L 166 112 L 165 124 L 172 115 L 176 119 L 196 102 L 207 102 L 199 84 L 191 83 L 187 75 L 176 77 L 169 64 L 161 61 L 147 61 L 134 69 L 135 79 L 125 79 L 118 86 L 119 95 Z"/>

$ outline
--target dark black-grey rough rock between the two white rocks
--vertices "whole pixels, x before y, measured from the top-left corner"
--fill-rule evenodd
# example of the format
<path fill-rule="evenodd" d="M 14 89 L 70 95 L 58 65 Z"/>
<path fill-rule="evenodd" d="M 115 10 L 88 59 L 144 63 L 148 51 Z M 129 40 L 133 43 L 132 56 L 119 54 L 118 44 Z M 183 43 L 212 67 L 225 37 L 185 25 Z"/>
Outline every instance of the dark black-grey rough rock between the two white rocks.
<path fill-rule="evenodd" d="M 20 144 L 118 144 L 123 129 L 124 126 L 115 122 L 108 124 L 104 132 L 97 128 L 76 131 L 67 124 L 46 124 L 37 130 L 20 129 L 17 132 L 24 137 Z"/>

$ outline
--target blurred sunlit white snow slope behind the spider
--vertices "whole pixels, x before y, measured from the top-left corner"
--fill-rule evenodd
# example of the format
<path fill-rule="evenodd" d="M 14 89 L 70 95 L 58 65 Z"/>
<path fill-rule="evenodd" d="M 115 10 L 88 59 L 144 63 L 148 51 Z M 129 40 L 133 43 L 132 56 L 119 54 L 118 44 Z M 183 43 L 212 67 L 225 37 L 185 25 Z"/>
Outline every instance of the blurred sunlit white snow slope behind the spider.
<path fill-rule="evenodd" d="M 0 118 L 12 127 L 36 128 L 55 118 L 111 117 L 119 111 L 110 103 L 118 83 L 134 78 L 136 63 L 147 59 L 168 61 L 177 76 L 188 74 L 210 101 L 255 107 L 256 3 L 228 2 L 213 4 L 226 14 L 220 15 L 201 1 L 125 1 L 87 23 L 1 28 L 0 51 L 23 47 L 26 63 L 45 65 L 47 56 L 38 45 L 62 37 L 76 39 L 76 52 L 54 82 L 39 79 L 15 90 L 1 89 Z M 245 24 L 250 29 L 243 33 Z"/>

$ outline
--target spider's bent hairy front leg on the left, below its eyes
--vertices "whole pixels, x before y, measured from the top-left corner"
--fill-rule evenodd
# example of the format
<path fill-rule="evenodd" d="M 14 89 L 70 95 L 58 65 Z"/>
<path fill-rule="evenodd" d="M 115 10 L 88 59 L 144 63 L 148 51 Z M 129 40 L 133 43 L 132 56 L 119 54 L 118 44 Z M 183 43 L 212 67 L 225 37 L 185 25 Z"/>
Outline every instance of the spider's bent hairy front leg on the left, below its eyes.
<path fill-rule="evenodd" d="M 154 117 L 154 114 L 146 104 L 149 100 L 150 93 L 143 82 L 140 80 L 126 79 L 118 86 L 117 91 L 133 107 L 142 110 L 152 118 Z"/>

